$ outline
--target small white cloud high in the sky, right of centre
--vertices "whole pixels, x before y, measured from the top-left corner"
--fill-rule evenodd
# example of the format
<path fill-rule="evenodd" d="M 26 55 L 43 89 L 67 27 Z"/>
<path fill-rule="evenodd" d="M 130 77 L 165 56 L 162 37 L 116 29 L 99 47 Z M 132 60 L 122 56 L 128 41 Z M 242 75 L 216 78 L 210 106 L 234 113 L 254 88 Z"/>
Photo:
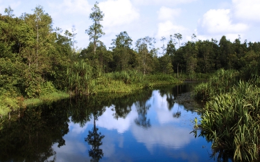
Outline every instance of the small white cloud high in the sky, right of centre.
<path fill-rule="evenodd" d="M 159 20 L 171 20 L 174 17 L 179 16 L 180 12 L 182 12 L 182 10 L 180 8 L 172 9 L 172 8 L 166 8 L 166 7 L 162 6 L 161 8 L 159 8 L 158 19 Z"/>

